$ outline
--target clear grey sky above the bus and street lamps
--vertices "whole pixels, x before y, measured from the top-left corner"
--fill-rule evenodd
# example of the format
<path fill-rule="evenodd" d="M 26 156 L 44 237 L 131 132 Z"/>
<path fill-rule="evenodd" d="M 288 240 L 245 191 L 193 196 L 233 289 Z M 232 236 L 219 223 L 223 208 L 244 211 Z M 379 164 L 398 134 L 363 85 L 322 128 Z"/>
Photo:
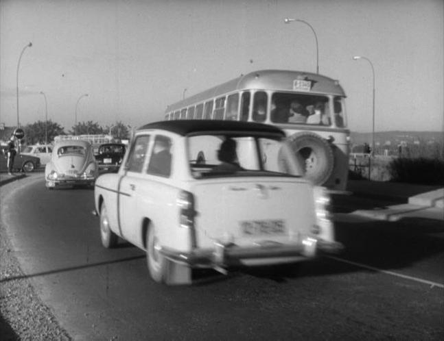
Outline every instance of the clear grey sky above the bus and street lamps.
<path fill-rule="evenodd" d="M 316 72 L 351 131 L 444 129 L 442 0 L 0 0 L 0 123 L 138 127 L 185 96 L 263 69 Z M 185 90 L 187 89 L 187 90 Z M 82 96 L 88 94 L 88 96 Z"/>

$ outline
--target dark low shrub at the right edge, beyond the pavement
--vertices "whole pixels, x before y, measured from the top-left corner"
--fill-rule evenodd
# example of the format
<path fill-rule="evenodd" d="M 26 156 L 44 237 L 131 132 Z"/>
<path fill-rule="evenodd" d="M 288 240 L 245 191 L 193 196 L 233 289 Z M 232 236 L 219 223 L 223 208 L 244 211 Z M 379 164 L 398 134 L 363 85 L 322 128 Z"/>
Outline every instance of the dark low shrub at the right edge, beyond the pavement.
<path fill-rule="evenodd" d="M 410 184 L 444 185 L 444 160 L 398 157 L 388 164 L 392 181 Z"/>

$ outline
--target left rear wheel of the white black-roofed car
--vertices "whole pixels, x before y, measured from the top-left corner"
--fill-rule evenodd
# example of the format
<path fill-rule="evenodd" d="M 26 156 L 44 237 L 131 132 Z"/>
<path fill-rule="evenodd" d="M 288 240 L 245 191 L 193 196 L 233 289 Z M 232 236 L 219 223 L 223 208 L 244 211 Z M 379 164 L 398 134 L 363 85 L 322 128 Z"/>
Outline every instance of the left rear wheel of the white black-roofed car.
<path fill-rule="evenodd" d="M 165 283 L 167 280 L 167 260 L 159 251 L 159 239 L 156 236 L 156 228 L 153 224 L 148 227 L 146 235 L 146 257 L 150 276 L 157 283 Z"/>

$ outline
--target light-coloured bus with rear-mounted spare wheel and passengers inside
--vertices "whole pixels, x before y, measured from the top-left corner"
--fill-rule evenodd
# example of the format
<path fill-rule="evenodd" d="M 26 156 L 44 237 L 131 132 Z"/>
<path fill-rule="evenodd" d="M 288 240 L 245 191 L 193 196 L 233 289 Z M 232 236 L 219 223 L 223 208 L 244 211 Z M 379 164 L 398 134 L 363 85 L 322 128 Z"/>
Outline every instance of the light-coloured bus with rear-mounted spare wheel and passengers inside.
<path fill-rule="evenodd" d="M 332 191 L 347 186 L 350 131 L 339 81 L 301 71 L 263 70 L 167 106 L 165 120 L 237 120 L 276 125 L 305 162 L 305 177 Z"/>

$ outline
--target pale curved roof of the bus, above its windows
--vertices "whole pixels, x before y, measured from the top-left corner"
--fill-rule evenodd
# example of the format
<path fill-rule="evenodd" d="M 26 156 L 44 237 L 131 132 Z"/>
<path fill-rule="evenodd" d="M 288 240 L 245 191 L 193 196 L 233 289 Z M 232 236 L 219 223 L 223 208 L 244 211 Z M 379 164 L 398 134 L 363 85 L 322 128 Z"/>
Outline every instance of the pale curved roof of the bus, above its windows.
<path fill-rule="evenodd" d="M 294 80 L 311 81 L 311 88 L 308 91 L 301 91 L 307 94 L 333 94 L 345 97 L 345 92 L 339 81 L 316 73 L 287 70 L 261 70 L 240 75 L 231 81 L 209 88 L 205 91 L 194 94 L 187 99 L 178 101 L 167 107 L 167 112 L 178 110 L 188 105 L 206 101 L 213 97 L 218 97 L 227 92 L 239 90 L 274 90 L 274 91 L 296 91 L 294 90 Z"/>

